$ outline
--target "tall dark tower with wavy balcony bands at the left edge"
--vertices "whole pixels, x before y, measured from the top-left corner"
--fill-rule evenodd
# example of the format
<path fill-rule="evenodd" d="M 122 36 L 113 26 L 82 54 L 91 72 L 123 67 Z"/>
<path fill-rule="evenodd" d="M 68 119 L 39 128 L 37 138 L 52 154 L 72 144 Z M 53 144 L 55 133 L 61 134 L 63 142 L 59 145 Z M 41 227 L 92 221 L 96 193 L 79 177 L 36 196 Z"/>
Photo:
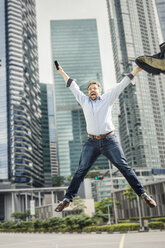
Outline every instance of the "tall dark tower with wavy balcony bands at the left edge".
<path fill-rule="evenodd" d="M 35 0 L 1 0 L 0 180 L 43 185 Z"/>

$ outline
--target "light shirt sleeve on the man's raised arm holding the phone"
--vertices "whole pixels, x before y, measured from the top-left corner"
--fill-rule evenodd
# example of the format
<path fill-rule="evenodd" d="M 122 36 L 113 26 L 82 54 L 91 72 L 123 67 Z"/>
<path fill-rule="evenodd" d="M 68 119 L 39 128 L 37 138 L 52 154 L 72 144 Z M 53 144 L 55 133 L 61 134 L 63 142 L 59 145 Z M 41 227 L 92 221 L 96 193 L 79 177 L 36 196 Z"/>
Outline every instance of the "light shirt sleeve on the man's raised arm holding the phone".
<path fill-rule="evenodd" d="M 68 79 L 67 87 L 69 87 L 69 89 L 72 91 L 73 95 L 76 97 L 76 100 L 80 103 L 80 105 L 83 105 L 87 96 L 80 90 L 74 79 Z"/>

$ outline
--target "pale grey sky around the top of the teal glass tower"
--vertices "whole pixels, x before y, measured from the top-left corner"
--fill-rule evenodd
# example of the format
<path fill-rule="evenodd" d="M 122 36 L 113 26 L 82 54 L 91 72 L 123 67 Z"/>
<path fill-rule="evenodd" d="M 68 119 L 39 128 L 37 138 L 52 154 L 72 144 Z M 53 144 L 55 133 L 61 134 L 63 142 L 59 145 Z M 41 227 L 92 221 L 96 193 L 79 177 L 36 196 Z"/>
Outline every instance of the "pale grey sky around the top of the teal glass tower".
<path fill-rule="evenodd" d="M 53 83 L 50 20 L 96 18 L 103 81 L 111 88 L 115 73 L 106 0 L 36 0 L 36 8 L 40 82 Z"/>

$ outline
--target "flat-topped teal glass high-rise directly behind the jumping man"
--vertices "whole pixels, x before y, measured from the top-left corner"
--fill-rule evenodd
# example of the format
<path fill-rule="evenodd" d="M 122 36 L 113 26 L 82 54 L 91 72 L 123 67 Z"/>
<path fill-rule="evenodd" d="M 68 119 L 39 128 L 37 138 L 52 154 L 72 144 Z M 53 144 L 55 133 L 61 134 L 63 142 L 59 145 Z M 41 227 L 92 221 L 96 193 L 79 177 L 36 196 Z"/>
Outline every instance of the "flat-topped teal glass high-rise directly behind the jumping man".
<path fill-rule="evenodd" d="M 95 79 L 102 84 L 100 51 L 95 19 L 51 21 L 52 59 L 58 60 L 80 89 Z M 87 139 L 83 111 L 54 68 L 56 128 L 60 175 L 67 176 L 78 167 L 82 144 Z M 106 158 L 95 165 L 107 168 Z"/>

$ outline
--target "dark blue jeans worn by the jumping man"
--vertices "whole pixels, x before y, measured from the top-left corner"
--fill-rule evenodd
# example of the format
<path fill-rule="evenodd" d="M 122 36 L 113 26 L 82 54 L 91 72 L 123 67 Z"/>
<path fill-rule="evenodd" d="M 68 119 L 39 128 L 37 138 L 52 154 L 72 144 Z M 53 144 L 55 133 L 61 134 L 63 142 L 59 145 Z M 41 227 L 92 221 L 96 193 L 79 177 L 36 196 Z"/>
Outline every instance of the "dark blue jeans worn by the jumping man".
<path fill-rule="evenodd" d="M 123 150 L 116 139 L 116 135 L 112 134 L 100 140 L 89 138 L 84 144 L 79 161 L 79 168 L 68 187 L 65 198 L 69 198 L 71 201 L 73 200 L 78 192 L 80 183 L 84 180 L 87 172 L 100 154 L 106 156 L 118 168 L 137 195 L 140 196 L 145 192 L 135 172 L 128 165 Z"/>

